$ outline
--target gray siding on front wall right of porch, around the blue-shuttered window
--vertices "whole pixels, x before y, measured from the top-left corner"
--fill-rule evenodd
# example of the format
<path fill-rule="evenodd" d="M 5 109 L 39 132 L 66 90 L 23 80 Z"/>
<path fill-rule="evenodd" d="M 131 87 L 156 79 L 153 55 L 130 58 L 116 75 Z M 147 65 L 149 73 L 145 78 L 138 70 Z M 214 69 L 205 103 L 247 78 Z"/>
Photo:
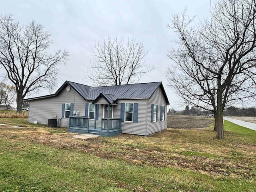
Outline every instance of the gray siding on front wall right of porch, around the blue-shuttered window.
<path fill-rule="evenodd" d="M 138 103 L 138 122 L 122 122 L 122 133 L 146 135 L 146 99 L 118 100 L 118 105 L 114 105 L 113 118 L 120 118 L 121 103 Z"/>

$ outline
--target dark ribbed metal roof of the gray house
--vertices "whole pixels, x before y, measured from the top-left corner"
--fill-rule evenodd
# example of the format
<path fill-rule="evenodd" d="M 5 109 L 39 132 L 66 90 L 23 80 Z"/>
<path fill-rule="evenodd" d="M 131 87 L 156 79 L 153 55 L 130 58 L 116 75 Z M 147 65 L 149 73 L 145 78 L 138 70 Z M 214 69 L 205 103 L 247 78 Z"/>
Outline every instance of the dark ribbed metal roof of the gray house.
<path fill-rule="evenodd" d="M 152 83 L 139 83 L 139 84 L 126 84 L 115 86 L 102 86 L 102 87 L 90 87 L 83 84 L 78 84 L 70 81 L 64 82 L 64 84 L 56 91 L 54 95 L 42 96 L 37 98 L 30 98 L 25 100 L 33 100 L 39 98 L 46 98 L 57 95 L 66 85 L 71 86 L 84 100 L 96 100 L 101 96 L 110 102 L 118 99 L 138 99 L 138 98 L 150 98 L 156 89 L 160 86 L 167 104 L 169 101 L 164 91 L 162 82 Z"/>

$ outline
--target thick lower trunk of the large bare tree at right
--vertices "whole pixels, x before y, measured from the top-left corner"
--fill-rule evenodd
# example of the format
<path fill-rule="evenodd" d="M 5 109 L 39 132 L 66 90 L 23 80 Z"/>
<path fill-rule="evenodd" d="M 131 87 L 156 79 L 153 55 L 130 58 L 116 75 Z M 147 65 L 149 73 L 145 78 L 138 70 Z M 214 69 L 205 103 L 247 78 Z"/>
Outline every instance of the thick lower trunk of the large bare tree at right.
<path fill-rule="evenodd" d="M 223 128 L 223 110 L 222 110 L 222 91 L 218 88 L 217 91 L 217 139 L 224 139 L 224 128 Z"/>

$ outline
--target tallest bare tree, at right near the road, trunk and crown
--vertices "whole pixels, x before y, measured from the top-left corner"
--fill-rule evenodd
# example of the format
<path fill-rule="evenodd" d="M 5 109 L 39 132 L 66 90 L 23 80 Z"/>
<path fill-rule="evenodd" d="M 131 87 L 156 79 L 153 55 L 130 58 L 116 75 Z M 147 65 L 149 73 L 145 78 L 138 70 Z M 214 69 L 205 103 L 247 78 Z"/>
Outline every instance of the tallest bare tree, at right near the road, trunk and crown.
<path fill-rule="evenodd" d="M 168 57 L 176 65 L 166 77 L 186 102 L 214 112 L 223 139 L 223 110 L 256 98 L 256 2 L 220 0 L 213 10 L 197 25 L 185 12 L 173 16 L 178 47 Z"/>

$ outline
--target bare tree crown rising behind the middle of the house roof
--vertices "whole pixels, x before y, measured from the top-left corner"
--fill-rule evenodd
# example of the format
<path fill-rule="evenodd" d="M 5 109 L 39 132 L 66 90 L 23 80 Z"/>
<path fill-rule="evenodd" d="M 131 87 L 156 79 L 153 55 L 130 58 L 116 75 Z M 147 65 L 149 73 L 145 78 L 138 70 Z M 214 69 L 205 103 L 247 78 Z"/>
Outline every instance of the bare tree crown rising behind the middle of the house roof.
<path fill-rule="evenodd" d="M 136 39 L 128 39 L 124 44 L 123 38 L 114 40 L 111 37 L 102 45 L 95 44 L 91 50 L 96 63 L 92 63 L 84 77 L 94 85 L 121 85 L 136 83 L 140 78 L 153 70 L 146 64 L 145 56 L 148 51 Z"/>

